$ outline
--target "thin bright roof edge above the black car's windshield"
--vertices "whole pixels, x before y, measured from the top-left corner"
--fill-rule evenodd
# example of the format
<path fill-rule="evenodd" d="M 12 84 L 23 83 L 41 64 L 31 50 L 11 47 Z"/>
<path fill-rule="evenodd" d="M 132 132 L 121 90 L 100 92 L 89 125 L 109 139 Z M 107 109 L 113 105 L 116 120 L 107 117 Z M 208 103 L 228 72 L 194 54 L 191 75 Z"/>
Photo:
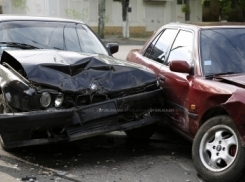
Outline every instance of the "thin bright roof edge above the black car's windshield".
<path fill-rule="evenodd" d="M 55 18 L 55 17 L 38 17 L 38 16 L 25 16 L 25 15 L 0 15 L 0 22 L 1 21 L 30 21 L 30 20 L 83 23 L 82 21 L 78 21 L 78 20 Z"/>

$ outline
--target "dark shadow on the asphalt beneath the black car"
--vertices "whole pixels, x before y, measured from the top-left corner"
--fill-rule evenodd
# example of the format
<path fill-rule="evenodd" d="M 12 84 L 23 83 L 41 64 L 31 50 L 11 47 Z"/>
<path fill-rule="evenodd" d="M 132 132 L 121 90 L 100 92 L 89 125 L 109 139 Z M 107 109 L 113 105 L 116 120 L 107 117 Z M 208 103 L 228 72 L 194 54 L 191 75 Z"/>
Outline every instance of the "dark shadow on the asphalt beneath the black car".
<path fill-rule="evenodd" d="M 42 166 L 67 170 L 74 166 L 103 165 L 108 160 L 128 162 L 139 156 L 175 154 L 175 157 L 190 159 L 191 143 L 176 132 L 161 127 L 143 143 L 129 141 L 124 132 L 112 132 L 70 143 L 32 146 L 12 154 Z"/>

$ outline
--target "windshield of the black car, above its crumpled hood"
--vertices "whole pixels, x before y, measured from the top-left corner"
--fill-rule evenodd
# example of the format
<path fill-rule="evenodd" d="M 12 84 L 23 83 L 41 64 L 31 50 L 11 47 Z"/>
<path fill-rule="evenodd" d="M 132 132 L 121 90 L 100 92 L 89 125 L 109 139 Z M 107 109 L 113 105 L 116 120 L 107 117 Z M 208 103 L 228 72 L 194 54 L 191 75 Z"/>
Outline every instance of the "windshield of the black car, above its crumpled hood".
<path fill-rule="evenodd" d="M 19 45 L 11 43 L 18 43 Z M 40 49 L 58 49 L 108 55 L 102 43 L 84 24 L 42 21 L 1 23 L 1 52 L 4 49 L 13 47 L 27 48 L 27 45 Z"/>

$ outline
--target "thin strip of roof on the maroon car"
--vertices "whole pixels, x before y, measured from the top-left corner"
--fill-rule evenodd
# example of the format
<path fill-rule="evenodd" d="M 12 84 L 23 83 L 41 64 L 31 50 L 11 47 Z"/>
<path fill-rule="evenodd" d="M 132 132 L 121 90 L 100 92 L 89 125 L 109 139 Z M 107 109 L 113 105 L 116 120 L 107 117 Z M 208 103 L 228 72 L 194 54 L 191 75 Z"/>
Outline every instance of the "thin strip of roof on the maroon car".
<path fill-rule="evenodd" d="M 193 22 L 193 23 L 169 23 L 165 26 L 192 28 L 192 29 L 211 29 L 211 28 L 245 28 L 244 22 Z"/>

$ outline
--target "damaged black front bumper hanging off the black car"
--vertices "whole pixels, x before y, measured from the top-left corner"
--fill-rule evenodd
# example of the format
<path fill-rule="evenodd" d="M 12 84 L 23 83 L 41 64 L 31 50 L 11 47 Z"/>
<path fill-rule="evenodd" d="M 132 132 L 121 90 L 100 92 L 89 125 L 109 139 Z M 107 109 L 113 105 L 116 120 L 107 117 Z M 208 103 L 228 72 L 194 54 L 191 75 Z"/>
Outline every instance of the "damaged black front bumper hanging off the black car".
<path fill-rule="evenodd" d="M 5 149 L 73 141 L 116 130 L 130 130 L 153 124 L 159 116 L 140 117 L 161 98 L 162 90 L 144 92 L 87 106 L 8 113 L 0 115 L 0 134 Z M 137 109 L 135 109 L 137 108 Z M 136 114 L 125 120 L 125 113 Z"/>

